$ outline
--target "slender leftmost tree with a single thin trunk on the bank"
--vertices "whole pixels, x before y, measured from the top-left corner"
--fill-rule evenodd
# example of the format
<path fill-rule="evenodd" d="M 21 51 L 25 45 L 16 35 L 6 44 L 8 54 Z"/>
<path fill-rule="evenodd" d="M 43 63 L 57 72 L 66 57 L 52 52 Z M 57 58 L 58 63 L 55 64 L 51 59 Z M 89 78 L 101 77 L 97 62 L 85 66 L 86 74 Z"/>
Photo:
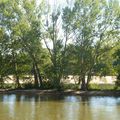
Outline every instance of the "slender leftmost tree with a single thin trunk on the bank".
<path fill-rule="evenodd" d="M 16 14 L 18 10 L 19 7 L 15 0 L 1 2 L 0 25 L 7 36 L 7 39 L 4 42 L 4 51 L 6 51 L 6 53 L 3 53 L 3 55 L 6 54 L 7 56 L 10 56 L 13 66 L 13 74 L 16 77 L 16 85 L 17 87 L 20 87 L 17 56 L 18 52 L 21 50 L 21 45 L 18 37 L 14 34 L 14 26 L 18 23 L 18 16 Z"/>

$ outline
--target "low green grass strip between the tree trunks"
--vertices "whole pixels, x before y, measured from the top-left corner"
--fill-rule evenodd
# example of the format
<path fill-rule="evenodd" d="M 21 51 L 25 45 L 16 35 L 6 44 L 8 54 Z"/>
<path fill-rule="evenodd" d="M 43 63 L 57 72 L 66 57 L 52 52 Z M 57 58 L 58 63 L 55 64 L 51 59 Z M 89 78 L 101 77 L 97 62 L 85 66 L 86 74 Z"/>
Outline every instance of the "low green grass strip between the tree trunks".
<path fill-rule="evenodd" d="M 34 85 L 31 83 L 22 84 L 21 89 L 34 89 Z M 2 84 L 0 89 L 16 89 L 15 84 Z M 37 88 L 40 89 L 40 88 Z M 43 90 L 54 89 L 54 86 L 50 83 L 43 84 Z M 59 90 L 79 90 L 80 85 L 77 84 L 61 84 Z M 120 90 L 120 86 L 116 87 L 114 84 L 90 84 L 88 90 L 101 91 L 101 90 Z"/>

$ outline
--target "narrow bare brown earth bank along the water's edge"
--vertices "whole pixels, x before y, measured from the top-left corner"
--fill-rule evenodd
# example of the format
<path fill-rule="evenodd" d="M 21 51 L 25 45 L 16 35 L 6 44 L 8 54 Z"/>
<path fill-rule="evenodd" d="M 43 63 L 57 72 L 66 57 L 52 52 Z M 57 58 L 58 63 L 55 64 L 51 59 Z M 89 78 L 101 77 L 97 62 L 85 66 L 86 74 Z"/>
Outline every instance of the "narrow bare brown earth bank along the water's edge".
<path fill-rule="evenodd" d="M 5 90 L 0 89 L 0 94 L 26 94 L 26 95 L 79 95 L 79 96 L 120 96 L 120 90 L 118 91 L 75 91 L 75 90 Z"/>

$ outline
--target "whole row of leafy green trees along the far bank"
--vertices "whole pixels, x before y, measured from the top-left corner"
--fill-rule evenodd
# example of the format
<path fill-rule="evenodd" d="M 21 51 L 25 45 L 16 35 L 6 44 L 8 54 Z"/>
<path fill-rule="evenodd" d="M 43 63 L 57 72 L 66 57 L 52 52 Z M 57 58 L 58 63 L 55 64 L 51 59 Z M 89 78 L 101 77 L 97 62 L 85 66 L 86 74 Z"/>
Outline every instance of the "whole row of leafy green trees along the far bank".
<path fill-rule="evenodd" d="M 120 80 L 119 0 L 75 0 L 64 7 L 45 0 L 0 1 L 0 82 L 13 75 L 16 87 L 26 75 L 42 88 L 47 79 L 78 75 L 81 89 L 91 77 Z M 85 78 L 87 77 L 87 82 Z M 118 81 L 119 81 L 118 80 Z"/>

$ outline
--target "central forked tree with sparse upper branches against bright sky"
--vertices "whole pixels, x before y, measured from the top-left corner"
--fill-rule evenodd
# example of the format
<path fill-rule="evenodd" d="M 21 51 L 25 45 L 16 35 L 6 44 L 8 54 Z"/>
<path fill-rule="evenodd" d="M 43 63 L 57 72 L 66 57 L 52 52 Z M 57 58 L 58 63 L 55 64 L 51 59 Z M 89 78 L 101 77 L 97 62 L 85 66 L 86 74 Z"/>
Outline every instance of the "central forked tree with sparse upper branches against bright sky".
<path fill-rule="evenodd" d="M 57 88 L 60 86 L 61 78 L 64 75 L 66 47 L 68 42 L 67 34 L 65 34 L 65 36 L 63 35 L 61 20 L 59 7 L 54 8 L 52 12 L 47 13 L 43 33 L 43 40 L 51 60 L 51 65 L 49 65 L 48 68 L 51 74 L 48 77 Z M 52 47 L 50 47 L 49 44 L 51 44 Z"/>

